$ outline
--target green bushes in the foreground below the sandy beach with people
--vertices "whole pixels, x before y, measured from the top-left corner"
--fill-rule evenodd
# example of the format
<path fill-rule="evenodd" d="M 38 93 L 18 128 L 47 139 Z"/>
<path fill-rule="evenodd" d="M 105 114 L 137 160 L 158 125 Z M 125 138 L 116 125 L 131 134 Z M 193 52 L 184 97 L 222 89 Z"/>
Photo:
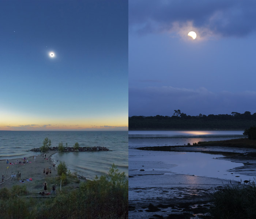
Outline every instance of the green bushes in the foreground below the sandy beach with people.
<path fill-rule="evenodd" d="M 126 219 L 128 218 L 128 180 L 113 164 L 108 176 L 95 178 L 69 188 L 68 183 L 77 177 L 67 171 L 65 164 L 58 169 L 63 187 L 57 196 L 35 198 L 26 186 L 15 185 L 12 189 L 0 189 L 1 219 Z M 28 196 L 32 196 L 27 198 Z M 38 195 L 37 195 L 38 196 Z M 39 196 L 40 197 L 40 196 Z"/>

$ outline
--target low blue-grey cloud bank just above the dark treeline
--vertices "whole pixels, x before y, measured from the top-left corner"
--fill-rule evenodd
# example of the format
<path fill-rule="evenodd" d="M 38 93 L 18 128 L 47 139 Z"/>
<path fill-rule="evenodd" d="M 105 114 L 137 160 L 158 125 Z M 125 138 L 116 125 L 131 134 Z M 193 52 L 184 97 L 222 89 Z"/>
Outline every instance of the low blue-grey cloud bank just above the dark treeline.
<path fill-rule="evenodd" d="M 256 92 L 213 93 L 206 88 L 129 88 L 129 116 L 172 116 L 180 109 L 187 115 L 256 112 Z M 248 108 L 249 106 L 249 108 Z"/>

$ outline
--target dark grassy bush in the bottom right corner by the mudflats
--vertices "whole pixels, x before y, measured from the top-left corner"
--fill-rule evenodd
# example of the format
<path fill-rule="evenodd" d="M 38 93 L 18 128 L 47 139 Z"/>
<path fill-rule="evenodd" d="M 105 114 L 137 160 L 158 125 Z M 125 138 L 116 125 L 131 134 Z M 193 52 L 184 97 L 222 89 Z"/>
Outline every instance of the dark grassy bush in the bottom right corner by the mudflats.
<path fill-rule="evenodd" d="M 256 218 L 256 186 L 225 185 L 212 196 L 211 215 L 216 219 Z"/>

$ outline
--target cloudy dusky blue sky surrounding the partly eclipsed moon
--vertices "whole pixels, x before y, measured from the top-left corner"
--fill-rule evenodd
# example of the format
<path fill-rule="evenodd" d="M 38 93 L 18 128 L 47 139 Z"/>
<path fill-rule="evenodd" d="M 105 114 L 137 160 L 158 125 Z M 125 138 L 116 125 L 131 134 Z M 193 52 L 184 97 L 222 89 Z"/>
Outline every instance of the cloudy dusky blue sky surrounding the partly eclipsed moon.
<path fill-rule="evenodd" d="M 129 0 L 129 116 L 256 112 L 255 8 L 253 0 Z"/>

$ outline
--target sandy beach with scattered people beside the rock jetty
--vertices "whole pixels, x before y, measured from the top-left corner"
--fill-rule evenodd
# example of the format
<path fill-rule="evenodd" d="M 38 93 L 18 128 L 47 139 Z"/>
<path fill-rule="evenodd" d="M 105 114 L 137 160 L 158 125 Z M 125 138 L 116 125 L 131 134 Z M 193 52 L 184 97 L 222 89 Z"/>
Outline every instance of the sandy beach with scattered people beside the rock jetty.
<path fill-rule="evenodd" d="M 56 153 L 56 151 L 48 151 L 46 152 L 46 159 L 43 157 L 43 154 L 37 155 L 35 160 L 33 157 L 27 157 L 27 160 L 30 161 L 26 164 L 15 164 L 16 161 L 22 161 L 23 158 L 16 158 L 9 160 L 9 164 L 6 164 L 6 160 L 0 160 L 0 174 L 1 174 L 1 181 L 0 181 L 0 189 L 1 188 L 8 188 L 11 189 L 13 185 L 26 185 L 27 190 L 32 193 L 39 193 L 44 191 L 44 185 L 43 183 L 46 181 L 51 181 L 52 183 L 48 183 L 48 192 L 50 192 L 51 186 L 53 183 L 53 180 L 50 178 L 53 178 L 57 176 L 56 168 L 53 167 L 53 162 L 50 158 L 52 154 Z M 10 165 L 10 163 L 13 163 L 14 165 Z M 52 173 L 51 176 L 46 177 L 43 173 L 44 168 L 51 168 Z M 14 180 L 11 178 L 12 173 L 21 173 L 21 180 L 23 180 L 25 183 L 20 183 L 18 180 Z M 2 183 L 2 175 L 5 175 L 4 182 Z M 32 181 L 27 181 L 27 178 L 31 178 Z M 57 183 L 57 182 L 56 182 Z"/>

